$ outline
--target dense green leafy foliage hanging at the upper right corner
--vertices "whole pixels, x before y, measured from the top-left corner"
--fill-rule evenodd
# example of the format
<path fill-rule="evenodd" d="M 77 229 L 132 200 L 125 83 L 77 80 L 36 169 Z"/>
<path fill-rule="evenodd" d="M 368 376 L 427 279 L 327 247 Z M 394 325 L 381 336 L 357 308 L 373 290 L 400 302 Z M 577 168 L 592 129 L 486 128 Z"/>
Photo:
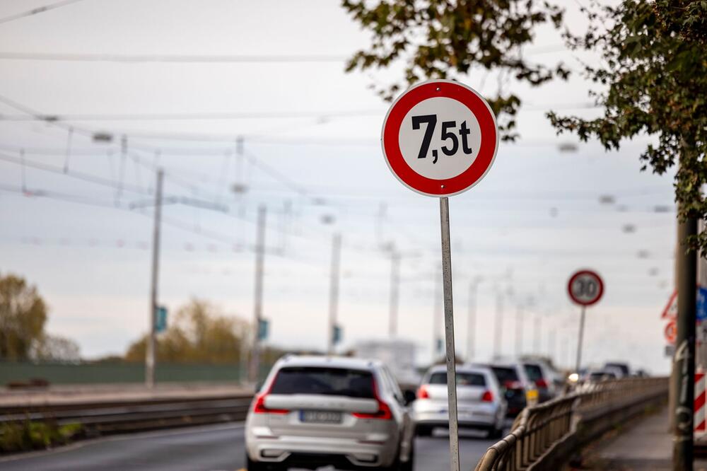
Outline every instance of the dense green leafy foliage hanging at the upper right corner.
<path fill-rule="evenodd" d="M 583 8 L 590 27 L 567 34 L 579 50 L 600 52 L 585 74 L 602 90 L 592 93 L 602 116 L 592 120 L 549 113 L 559 132 L 598 138 L 619 149 L 626 138 L 653 136 L 641 152 L 643 169 L 665 173 L 679 164 L 675 198 L 679 216 L 707 217 L 707 1 L 624 0 Z M 707 233 L 688 241 L 707 250 Z"/>

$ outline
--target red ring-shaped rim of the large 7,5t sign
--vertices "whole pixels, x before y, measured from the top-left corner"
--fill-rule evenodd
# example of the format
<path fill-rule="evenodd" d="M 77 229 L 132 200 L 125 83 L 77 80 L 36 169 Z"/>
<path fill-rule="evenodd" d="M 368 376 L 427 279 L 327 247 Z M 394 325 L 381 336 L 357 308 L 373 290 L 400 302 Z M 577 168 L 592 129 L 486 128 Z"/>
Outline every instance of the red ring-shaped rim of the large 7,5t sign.
<path fill-rule="evenodd" d="M 407 112 L 422 100 L 438 96 L 452 98 L 469 108 L 481 127 L 481 144 L 474 163 L 459 175 L 444 180 L 423 177 L 413 170 L 403 158 L 398 142 L 400 126 Z M 408 88 L 390 105 L 383 120 L 380 144 L 385 163 L 403 185 L 427 196 L 452 196 L 469 190 L 489 173 L 498 152 L 496 116 L 489 103 L 473 88 L 452 80 L 429 80 Z"/>

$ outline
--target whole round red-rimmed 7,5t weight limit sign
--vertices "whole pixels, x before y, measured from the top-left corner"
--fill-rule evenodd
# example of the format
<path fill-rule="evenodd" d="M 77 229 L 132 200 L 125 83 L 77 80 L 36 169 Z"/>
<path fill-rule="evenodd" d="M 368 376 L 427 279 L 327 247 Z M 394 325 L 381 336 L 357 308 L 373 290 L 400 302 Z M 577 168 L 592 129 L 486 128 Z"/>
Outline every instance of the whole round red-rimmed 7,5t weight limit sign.
<path fill-rule="evenodd" d="M 469 190 L 489 172 L 498 127 L 489 103 L 472 88 L 431 80 L 393 102 L 380 141 L 390 171 L 403 185 L 443 197 Z"/>

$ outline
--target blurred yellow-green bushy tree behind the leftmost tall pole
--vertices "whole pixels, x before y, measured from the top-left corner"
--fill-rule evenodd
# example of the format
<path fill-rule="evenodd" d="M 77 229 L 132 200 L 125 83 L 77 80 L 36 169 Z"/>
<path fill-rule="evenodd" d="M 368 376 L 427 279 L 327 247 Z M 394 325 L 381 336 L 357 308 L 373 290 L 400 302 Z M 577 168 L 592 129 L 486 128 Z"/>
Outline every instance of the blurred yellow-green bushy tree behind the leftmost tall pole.
<path fill-rule="evenodd" d="M 177 310 L 166 332 L 158 335 L 156 357 L 165 363 L 228 364 L 240 361 L 246 322 L 223 315 L 214 306 L 193 299 Z M 145 361 L 146 337 L 127 350 L 127 361 Z"/>

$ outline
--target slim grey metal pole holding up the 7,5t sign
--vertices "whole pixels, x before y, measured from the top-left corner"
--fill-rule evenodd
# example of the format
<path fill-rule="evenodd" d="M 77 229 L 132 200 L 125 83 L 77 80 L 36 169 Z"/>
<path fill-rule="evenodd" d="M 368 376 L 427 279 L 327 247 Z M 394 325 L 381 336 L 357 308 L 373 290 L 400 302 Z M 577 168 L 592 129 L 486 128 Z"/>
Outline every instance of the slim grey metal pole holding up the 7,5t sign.
<path fill-rule="evenodd" d="M 451 471 L 459 471 L 459 428 L 457 424 L 457 368 L 454 350 L 454 312 L 452 308 L 452 254 L 449 240 L 449 200 L 440 198 L 442 228 L 442 279 L 444 293 L 444 330 L 447 347 L 447 399 L 449 409 L 449 451 Z"/>

